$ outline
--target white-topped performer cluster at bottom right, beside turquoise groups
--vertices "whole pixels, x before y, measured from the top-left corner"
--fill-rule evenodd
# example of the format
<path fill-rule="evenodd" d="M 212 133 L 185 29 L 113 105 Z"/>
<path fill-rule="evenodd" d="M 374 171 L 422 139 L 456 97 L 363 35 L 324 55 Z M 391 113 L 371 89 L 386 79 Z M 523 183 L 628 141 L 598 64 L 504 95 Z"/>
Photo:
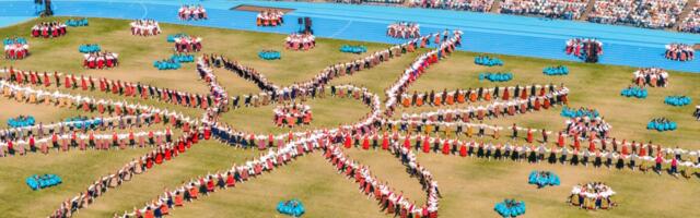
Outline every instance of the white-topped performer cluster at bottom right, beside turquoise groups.
<path fill-rule="evenodd" d="M 609 209 L 617 206 L 612 195 L 612 189 L 603 182 L 578 184 L 571 191 L 569 204 L 583 209 Z"/>

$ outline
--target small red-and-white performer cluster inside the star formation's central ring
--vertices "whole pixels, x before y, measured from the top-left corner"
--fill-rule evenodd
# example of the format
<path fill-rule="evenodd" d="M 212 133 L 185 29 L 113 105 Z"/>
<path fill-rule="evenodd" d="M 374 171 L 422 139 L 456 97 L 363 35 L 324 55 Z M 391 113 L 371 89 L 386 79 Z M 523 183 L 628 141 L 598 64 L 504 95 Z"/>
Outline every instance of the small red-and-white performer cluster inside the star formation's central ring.
<path fill-rule="evenodd" d="M 275 124 L 277 126 L 294 128 L 295 125 L 308 125 L 313 120 L 311 107 L 307 105 L 294 104 L 275 108 Z"/>

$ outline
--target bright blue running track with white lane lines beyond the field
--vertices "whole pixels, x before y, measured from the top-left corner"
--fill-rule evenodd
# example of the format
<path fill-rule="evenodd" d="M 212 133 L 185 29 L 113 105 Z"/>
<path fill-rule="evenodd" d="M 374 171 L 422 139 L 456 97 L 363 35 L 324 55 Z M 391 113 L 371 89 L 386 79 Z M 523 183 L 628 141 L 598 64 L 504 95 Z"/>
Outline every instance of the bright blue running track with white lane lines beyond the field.
<path fill-rule="evenodd" d="M 205 5 L 210 20 L 179 21 L 177 9 L 183 3 Z M 255 25 L 255 12 L 229 10 L 240 4 L 289 8 L 294 11 L 284 16 L 287 23 L 282 26 L 258 27 Z M 0 0 L 0 26 L 26 21 L 35 13 L 31 0 Z M 698 44 L 700 35 L 586 22 L 399 7 L 275 1 L 55 0 L 54 8 L 59 16 L 153 19 L 163 23 L 279 34 L 298 31 L 296 19 L 311 16 L 318 37 L 388 44 L 400 40 L 386 37 L 386 26 L 397 21 L 409 21 L 419 23 L 423 34 L 442 33 L 445 28 L 462 29 L 465 39 L 460 50 L 569 61 L 579 59 L 563 52 L 565 40 L 591 37 L 604 43 L 600 58 L 604 64 L 658 66 L 700 73 L 700 60 L 677 62 L 664 58 L 666 44 Z"/>

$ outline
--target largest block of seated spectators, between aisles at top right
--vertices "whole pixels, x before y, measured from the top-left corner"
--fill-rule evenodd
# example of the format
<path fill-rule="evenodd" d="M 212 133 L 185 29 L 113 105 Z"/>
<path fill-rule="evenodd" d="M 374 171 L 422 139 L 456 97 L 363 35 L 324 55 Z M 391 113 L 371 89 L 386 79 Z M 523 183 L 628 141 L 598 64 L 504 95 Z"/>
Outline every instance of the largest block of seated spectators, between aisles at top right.
<path fill-rule="evenodd" d="M 588 21 L 646 28 L 673 27 L 686 0 L 596 0 Z"/>

